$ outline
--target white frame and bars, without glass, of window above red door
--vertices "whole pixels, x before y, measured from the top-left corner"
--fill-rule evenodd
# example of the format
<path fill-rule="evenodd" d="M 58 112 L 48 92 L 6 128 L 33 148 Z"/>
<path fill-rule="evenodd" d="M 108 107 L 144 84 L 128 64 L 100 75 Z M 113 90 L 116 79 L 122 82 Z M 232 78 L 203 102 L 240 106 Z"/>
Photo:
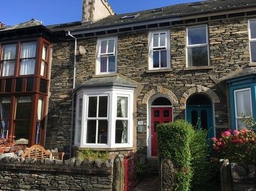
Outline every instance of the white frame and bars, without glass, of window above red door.
<path fill-rule="evenodd" d="M 165 33 L 165 46 L 153 47 L 154 34 L 163 34 L 163 33 Z M 166 49 L 166 67 L 159 66 L 157 68 L 154 68 L 153 52 L 158 50 L 161 51 L 163 49 Z M 161 56 L 159 56 L 159 59 L 160 58 Z M 159 65 L 160 65 L 160 60 L 159 60 Z M 161 70 L 161 69 L 168 69 L 170 67 L 171 67 L 170 30 L 149 31 L 149 70 Z"/>

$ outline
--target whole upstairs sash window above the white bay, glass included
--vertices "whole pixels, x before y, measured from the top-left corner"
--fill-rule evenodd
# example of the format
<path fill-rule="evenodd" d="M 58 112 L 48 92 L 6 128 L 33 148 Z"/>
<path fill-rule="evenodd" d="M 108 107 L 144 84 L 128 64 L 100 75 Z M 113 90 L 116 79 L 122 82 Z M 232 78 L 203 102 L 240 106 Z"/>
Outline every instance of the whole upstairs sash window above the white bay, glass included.
<path fill-rule="evenodd" d="M 97 74 L 116 72 L 117 38 L 98 39 Z"/>

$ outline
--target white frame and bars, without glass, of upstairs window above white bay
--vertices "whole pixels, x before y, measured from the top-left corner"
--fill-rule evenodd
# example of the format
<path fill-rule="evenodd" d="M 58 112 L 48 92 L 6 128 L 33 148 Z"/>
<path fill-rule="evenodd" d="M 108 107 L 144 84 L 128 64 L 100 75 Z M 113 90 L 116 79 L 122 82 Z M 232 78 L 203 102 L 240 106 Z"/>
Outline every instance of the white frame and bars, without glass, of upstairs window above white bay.
<path fill-rule="evenodd" d="M 108 43 L 109 40 L 114 40 L 114 51 L 113 52 L 105 52 L 105 53 L 100 53 L 101 52 L 101 42 L 107 40 L 107 48 L 108 49 Z M 107 75 L 111 73 L 116 73 L 117 71 L 117 61 L 118 61 L 118 37 L 107 37 L 107 38 L 99 38 L 97 40 L 97 59 L 96 59 L 96 75 Z M 108 71 L 109 69 L 109 63 L 107 61 L 107 71 L 105 72 L 100 72 L 100 58 L 101 56 L 115 56 L 115 66 L 114 66 L 114 71 Z"/>

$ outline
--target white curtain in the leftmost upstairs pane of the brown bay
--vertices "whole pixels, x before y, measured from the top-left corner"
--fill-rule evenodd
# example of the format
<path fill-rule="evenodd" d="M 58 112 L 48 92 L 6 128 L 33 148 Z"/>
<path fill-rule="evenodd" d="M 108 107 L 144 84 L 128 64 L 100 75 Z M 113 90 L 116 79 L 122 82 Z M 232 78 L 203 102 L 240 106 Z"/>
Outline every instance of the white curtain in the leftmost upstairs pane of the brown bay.
<path fill-rule="evenodd" d="M 16 44 L 3 46 L 2 77 L 13 76 L 15 68 Z M 10 60 L 13 59 L 13 60 Z"/>

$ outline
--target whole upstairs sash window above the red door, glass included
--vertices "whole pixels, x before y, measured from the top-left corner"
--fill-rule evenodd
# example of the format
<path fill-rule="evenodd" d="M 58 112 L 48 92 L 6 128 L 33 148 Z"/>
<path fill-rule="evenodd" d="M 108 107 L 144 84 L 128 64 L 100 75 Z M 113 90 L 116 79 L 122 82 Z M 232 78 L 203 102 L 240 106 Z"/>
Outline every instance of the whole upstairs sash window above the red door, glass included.
<path fill-rule="evenodd" d="M 149 70 L 170 68 L 170 31 L 149 32 Z"/>

